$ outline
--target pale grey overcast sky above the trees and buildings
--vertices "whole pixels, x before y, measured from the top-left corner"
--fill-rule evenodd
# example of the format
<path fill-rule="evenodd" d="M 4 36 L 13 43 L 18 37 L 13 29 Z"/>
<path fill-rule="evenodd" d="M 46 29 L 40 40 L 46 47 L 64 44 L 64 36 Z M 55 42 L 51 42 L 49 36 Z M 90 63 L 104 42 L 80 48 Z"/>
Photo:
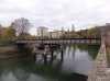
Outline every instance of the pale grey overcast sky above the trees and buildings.
<path fill-rule="evenodd" d="M 33 34 L 37 26 L 82 30 L 110 22 L 110 0 L 0 0 L 0 23 L 18 18 L 30 20 Z"/>

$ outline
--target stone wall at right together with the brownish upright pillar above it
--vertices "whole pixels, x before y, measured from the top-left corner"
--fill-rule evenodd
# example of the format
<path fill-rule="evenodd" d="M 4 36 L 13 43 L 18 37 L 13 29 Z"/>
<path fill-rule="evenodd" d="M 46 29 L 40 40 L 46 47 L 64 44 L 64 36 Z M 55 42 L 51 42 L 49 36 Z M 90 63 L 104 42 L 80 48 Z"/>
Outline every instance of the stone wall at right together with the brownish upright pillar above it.
<path fill-rule="evenodd" d="M 106 51 L 106 47 L 110 46 L 110 30 L 107 28 L 106 26 L 101 28 L 101 47 L 87 81 L 110 81 L 110 68 L 108 68 Z"/>

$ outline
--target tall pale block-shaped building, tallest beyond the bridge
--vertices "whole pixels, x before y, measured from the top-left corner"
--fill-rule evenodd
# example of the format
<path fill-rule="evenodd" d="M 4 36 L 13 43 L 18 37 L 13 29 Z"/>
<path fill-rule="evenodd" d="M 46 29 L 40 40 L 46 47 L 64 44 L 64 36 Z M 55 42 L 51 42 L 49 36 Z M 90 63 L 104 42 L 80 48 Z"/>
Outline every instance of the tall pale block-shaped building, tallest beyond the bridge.
<path fill-rule="evenodd" d="M 48 28 L 44 26 L 37 27 L 37 36 L 48 36 Z"/>

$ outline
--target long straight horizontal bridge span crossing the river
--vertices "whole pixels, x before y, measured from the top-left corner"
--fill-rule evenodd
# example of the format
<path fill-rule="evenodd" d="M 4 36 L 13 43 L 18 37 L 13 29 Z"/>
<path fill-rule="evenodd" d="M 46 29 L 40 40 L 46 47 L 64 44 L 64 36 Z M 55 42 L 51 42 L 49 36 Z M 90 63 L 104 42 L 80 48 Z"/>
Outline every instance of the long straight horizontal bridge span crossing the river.
<path fill-rule="evenodd" d="M 73 39 L 19 39 L 15 44 L 95 44 L 100 45 L 100 38 L 73 38 Z"/>

